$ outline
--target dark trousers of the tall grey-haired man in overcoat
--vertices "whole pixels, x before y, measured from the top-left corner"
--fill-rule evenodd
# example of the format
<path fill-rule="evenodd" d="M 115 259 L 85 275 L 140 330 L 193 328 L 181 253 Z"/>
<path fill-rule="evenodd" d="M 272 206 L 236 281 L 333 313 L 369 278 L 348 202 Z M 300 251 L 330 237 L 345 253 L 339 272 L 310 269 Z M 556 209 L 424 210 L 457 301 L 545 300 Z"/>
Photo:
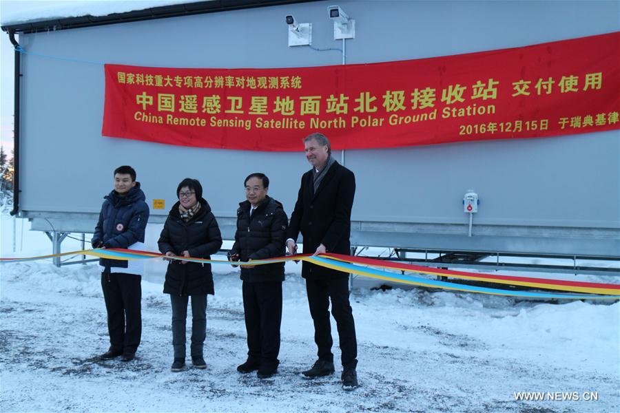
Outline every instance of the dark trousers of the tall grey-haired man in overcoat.
<path fill-rule="evenodd" d="M 358 341 L 355 338 L 355 321 L 349 304 L 349 279 L 306 279 L 310 315 L 314 321 L 314 341 L 318 347 L 318 358 L 333 361 L 331 352 L 331 324 L 329 322 L 329 299 L 331 314 L 336 321 L 342 366 L 353 367 L 358 364 Z"/>

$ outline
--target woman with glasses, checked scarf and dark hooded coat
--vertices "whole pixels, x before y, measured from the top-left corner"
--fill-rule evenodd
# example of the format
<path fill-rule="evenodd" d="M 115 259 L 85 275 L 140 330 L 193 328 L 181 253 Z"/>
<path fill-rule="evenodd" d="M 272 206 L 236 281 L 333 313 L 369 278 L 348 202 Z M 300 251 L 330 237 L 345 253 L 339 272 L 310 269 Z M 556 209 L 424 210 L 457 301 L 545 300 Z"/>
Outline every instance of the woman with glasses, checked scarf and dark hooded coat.
<path fill-rule="evenodd" d="M 211 207 L 203 198 L 203 187 L 195 179 L 185 178 L 176 189 L 178 202 L 170 210 L 159 237 L 161 253 L 169 257 L 211 258 L 222 246 L 222 235 Z M 185 367 L 185 320 L 192 297 L 192 364 L 206 368 L 203 357 L 207 328 L 207 294 L 214 294 L 211 264 L 170 260 L 164 293 L 172 303 L 172 371 Z"/>

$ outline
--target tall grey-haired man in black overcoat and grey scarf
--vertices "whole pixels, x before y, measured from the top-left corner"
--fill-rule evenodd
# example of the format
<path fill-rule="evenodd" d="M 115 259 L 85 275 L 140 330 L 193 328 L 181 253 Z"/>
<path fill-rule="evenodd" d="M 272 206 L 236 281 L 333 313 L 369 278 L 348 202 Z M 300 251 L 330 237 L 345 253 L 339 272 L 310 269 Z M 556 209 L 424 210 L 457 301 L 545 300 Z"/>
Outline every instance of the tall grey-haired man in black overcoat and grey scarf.
<path fill-rule="evenodd" d="M 301 232 L 304 253 L 350 255 L 355 175 L 332 158 L 329 140 L 322 134 L 304 138 L 304 150 L 312 169 L 301 179 L 287 231 L 288 251 L 296 253 L 296 240 Z M 331 299 L 331 313 L 338 326 L 342 351 L 342 388 L 353 390 L 358 386 L 355 371 L 358 345 L 349 303 L 349 274 L 304 262 L 302 277 L 306 279 L 310 314 L 314 321 L 314 341 L 318 347 L 318 360 L 312 368 L 302 372 L 302 376 L 314 379 L 334 372 L 329 321 Z"/>

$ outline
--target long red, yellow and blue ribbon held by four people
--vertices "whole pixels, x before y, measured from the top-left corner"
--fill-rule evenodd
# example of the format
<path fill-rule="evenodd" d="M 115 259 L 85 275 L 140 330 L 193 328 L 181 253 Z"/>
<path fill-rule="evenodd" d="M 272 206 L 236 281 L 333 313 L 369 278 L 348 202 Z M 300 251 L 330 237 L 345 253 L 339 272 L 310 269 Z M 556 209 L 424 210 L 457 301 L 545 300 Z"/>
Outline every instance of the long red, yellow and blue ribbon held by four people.
<path fill-rule="evenodd" d="M 35 257 L 23 258 L 0 258 L 1 263 L 9 262 L 27 262 L 35 260 L 45 260 L 52 257 L 62 257 L 65 255 L 90 255 L 93 257 L 107 258 L 112 260 L 146 260 L 152 258 L 166 257 L 160 253 L 152 253 L 150 251 L 128 250 L 123 248 L 96 248 L 92 250 L 72 251 L 69 253 L 59 253 L 52 255 L 38 255 Z M 287 257 L 274 257 L 267 260 L 252 260 L 251 262 L 229 262 L 225 260 L 207 260 L 205 258 L 195 257 L 166 257 L 169 260 L 181 260 L 188 262 L 209 263 L 209 264 L 227 264 L 227 265 L 265 265 L 274 264 L 276 262 L 287 262 L 291 260 L 305 261 L 326 268 L 331 268 L 345 273 L 362 275 L 374 279 L 383 279 L 386 281 L 397 282 L 400 284 L 409 284 L 415 286 L 424 286 L 427 288 L 442 288 L 445 290 L 457 290 L 466 293 L 482 293 L 489 295 L 505 295 L 510 297 L 537 298 L 537 299 L 620 299 L 620 285 L 603 284 L 593 282 L 577 282 L 564 279 L 544 279 L 535 277 L 518 277 L 515 275 L 491 275 L 467 273 L 464 271 L 442 270 L 440 268 L 431 268 L 420 265 L 404 264 L 400 262 L 388 262 L 384 260 L 376 260 L 366 257 L 355 257 L 350 255 L 340 255 L 333 253 L 321 254 L 313 256 L 309 254 L 289 255 Z M 377 268 L 368 268 L 369 266 Z M 457 279 L 475 280 L 479 282 L 509 284 L 512 286 L 526 286 L 530 288 L 541 288 L 545 290 L 559 290 L 570 293 L 582 294 L 561 294 L 561 293 L 545 293 L 535 291 L 520 290 L 502 290 L 499 288 L 488 288 L 481 286 L 470 286 L 467 284 L 459 284 L 455 282 L 439 281 L 434 279 L 426 279 L 423 277 L 415 277 L 410 274 L 399 274 L 385 271 L 387 268 L 391 270 L 408 271 L 426 275 L 436 275 L 441 277 L 451 277 Z M 583 294 L 585 293 L 585 294 Z"/>

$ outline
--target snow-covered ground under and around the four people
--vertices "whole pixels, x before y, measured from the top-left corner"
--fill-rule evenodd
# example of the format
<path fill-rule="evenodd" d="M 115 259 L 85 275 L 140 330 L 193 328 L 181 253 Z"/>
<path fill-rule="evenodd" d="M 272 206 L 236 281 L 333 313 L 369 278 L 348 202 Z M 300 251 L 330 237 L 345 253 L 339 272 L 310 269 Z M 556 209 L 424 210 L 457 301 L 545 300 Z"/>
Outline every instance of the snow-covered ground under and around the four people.
<path fill-rule="evenodd" d="M 2 257 L 50 253 L 45 235 L 1 221 Z M 25 224 L 28 229 L 28 224 Z M 157 229 L 150 229 L 153 238 Z M 63 251 L 79 248 L 69 240 Z M 20 250 L 20 246 L 21 251 Z M 154 247 L 149 245 L 154 251 Z M 617 412 L 620 304 L 515 302 L 506 297 L 370 290 L 351 297 L 360 388 L 340 389 L 340 369 L 299 377 L 316 359 L 303 280 L 287 264 L 279 374 L 242 375 L 245 326 L 238 269 L 216 266 L 207 308 L 207 370 L 170 372 L 165 264 L 143 281 L 143 342 L 130 363 L 107 350 L 105 306 L 94 264 L 0 264 L 2 412 Z M 333 324 L 335 332 L 335 324 Z M 334 337 L 339 359 L 338 337 Z M 579 400 L 515 401 L 515 392 L 577 392 Z M 583 399 L 597 392 L 597 401 Z"/>

